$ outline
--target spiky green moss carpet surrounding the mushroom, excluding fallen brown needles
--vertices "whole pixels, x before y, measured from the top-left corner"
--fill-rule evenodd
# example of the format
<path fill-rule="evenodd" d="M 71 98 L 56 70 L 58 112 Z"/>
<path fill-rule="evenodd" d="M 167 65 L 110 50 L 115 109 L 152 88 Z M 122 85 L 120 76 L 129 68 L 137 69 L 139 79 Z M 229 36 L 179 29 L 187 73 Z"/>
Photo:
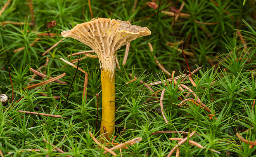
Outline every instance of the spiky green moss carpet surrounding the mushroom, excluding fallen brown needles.
<path fill-rule="evenodd" d="M 1 0 L 0 6 L 7 0 Z M 105 17 L 131 20 L 132 24 L 147 26 L 152 35 L 139 38 L 130 44 L 128 60 L 121 69 L 116 68 L 116 139 L 121 143 L 135 137 L 142 141 L 122 149 L 123 156 L 166 156 L 178 143 L 168 138 L 182 138 L 180 134 L 150 135 L 155 131 L 197 131 L 200 136 L 194 136 L 196 141 L 207 149 L 189 145 L 180 146 L 180 156 L 256 156 L 256 147 L 241 142 L 236 133 L 249 141 L 256 140 L 256 108 L 252 107 L 256 99 L 255 81 L 255 43 L 256 43 L 256 5 L 254 0 L 161 0 L 161 5 L 153 9 L 147 0 L 139 0 L 133 12 L 135 0 L 91 0 L 93 17 Z M 180 8 L 184 2 L 182 13 L 174 21 L 162 11 L 171 11 L 173 7 Z M 216 2 L 216 3 L 215 3 Z M 216 5 L 217 4 L 217 5 Z M 79 67 L 88 72 L 87 101 L 82 99 L 85 74 L 78 71 L 70 92 L 68 104 L 65 106 L 66 94 L 73 80 L 76 68 L 64 63 L 59 58 L 68 61 L 78 59 L 78 56 L 67 57 L 74 52 L 90 50 L 89 47 L 72 38 L 66 38 L 45 56 L 42 54 L 62 39 L 61 31 L 73 28 L 77 23 L 91 20 L 87 0 L 33 0 L 35 26 L 30 26 L 31 14 L 27 0 L 11 0 L 0 15 L 0 94 L 12 98 L 12 88 L 8 75 L 8 66 L 14 87 L 14 105 L 12 102 L 1 104 L 0 107 L 0 150 L 7 156 L 107 156 L 96 146 L 89 131 L 97 137 L 99 131 L 96 122 L 97 99 L 100 94 L 100 69 L 98 60 L 86 58 Z M 159 11 L 159 12 L 158 12 Z M 177 16 L 177 15 L 176 15 Z M 57 26 L 49 28 L 52 37 L 39 36 L 46 33 L 46 24 L 55 20 Z M 5 21 L 24 22 L 24 25 L 6 24 Z M 209 24 L 213 23 L 213 24 Z M 237 31 L 239 30 L 239 31 Z M 242 34 L 238 35 L 238 32 Z M 34 40 L 39 38 L 34 43 Z M 157 66 L 156 59 L 175 76 L 187 73 L 180 44 L 170 47 L 167 42 L 180 43 L 187 52 L 190 69 L 202 66 L 193 75 L 196 87 L 187 80 L 182 82 L 199 96 L 201 101 L 211 109 L 211 113 L 188 102 L 177 106 L 182 99 L 194 98 L 189 91 L 180 92 L 173 82 L 167 86 L 164 83 L 152 86 L 160 98 L 164 95 L 164 113 L 168 120 L 165 123 L 161 115 L 159 101 L 152 97 L 152 92 L 145 88 L 144 82 L 166 80 L 171 76 L 163 73 Z M 149 51 L 148 42 L 154 51 Z M 24 47 L 19 52 L 14 50 Z M 117 52 L 117 59 L 122 64 L 125 46 Z M 66 73 L 62 81 L 67 85 L 50 83 L 30 91 L 24 90 L 28 83 L 39 83 L 46 78 L 36 76 L 30 68 L 38 69 L 46 63 L 40 72 L 50 77 Z M 215 66 L 212 66 L 214 64 Z M 135 82 L 126 84 L 133 79 L 129 74 L 138 77 Z M 187 73 L 188 74 L 188 73 Z M 180 80 L 178 80 L 180 82 Z M 43 92 L 47 96 L 42 96 Z M 21 96 L 24 98 L 15 103 Z M 60 96 L 55 100 L 53 96 Z M 148 98 L 150 101 L 145 103 Z M 101 96 L 99 97 L 101 102 Z M 12 106 L 12 107 L 11 107 Z M 99 108 L 101 104 L 99 103 Z M 18 110 L 36 111 L 62 115 L 63 118 L 43 117 L 18 113 Z M 101 110 L 99 110 L 101 112 Z M 213 114 L 210 120 L 207 115 Z M 96 131 L 97 130 L 97 131 Z M 241 134 L 241 132 L 246 131 Z M 65 138 L 64 138 L 65 136 Z M 186 135 L 185 135 L 186 136 Z M 43 138 L 50 142 L 46 144 Z M 113 138 L 113 137 L 111 137 Z M 54 151 L 55 144 L 66 154 Z M 40 152 L 29 152 L 30 148 L 39 148 Z M 44 148 L 48 151 L 43 150 Z M 209 149 L 220 151 L 221 154 Z M 119 156 L 121 153 L 115 151 Z"/>

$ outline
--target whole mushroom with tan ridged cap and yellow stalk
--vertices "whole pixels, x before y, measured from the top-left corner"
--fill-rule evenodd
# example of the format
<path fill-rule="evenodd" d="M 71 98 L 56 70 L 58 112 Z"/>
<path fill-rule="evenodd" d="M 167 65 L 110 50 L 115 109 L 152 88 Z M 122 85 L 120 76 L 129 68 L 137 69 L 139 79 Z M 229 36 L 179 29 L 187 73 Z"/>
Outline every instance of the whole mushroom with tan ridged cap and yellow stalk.
<path fill-rule="evenodd" d="M 71 30 L 62 32 L 63 37 L 79 40 L 98 55 L 102 86 L 100 134 L 104 134 L 103 126 L 110 135 L 114 132 L 116 52 L 128 42 L 150 34 L 147 27 L 131 25 L 128 21 L 105 18 L 77 24 Z"/>

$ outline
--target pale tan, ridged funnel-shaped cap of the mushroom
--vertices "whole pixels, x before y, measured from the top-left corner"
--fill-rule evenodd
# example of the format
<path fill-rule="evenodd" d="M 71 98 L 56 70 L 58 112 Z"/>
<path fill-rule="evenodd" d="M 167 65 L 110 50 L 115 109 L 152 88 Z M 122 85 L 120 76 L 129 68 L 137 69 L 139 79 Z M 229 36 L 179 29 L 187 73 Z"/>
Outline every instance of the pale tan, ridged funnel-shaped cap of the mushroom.
<path fill-rule="evenodd" d="M 112 73 L 116 67 L 116 51 L 128 42 L 150 34 L 147 27 L 105 18 L 77 24 L 62 32 L 63 37 L 73 37 L 93 49 L 99 56 L 100 66 Z"/>

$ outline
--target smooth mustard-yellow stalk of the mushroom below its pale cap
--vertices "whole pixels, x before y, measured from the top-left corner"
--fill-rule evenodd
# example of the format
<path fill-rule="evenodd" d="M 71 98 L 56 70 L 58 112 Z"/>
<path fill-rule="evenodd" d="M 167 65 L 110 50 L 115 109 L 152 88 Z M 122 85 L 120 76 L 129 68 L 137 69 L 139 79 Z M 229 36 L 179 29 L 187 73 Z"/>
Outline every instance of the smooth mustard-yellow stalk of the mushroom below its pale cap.
<path fill-rule="evenodd" d="M 111 78 L 111 76 L 113 76 Z M 103 125 L 106 127 L 107 134 L 112 136 L 115 125 L 115 74 L 102 69 L 101 71 L 101 87 L 102 87 L 102 121 L 100 124 L 100 134 L 104 134 Z"/>

